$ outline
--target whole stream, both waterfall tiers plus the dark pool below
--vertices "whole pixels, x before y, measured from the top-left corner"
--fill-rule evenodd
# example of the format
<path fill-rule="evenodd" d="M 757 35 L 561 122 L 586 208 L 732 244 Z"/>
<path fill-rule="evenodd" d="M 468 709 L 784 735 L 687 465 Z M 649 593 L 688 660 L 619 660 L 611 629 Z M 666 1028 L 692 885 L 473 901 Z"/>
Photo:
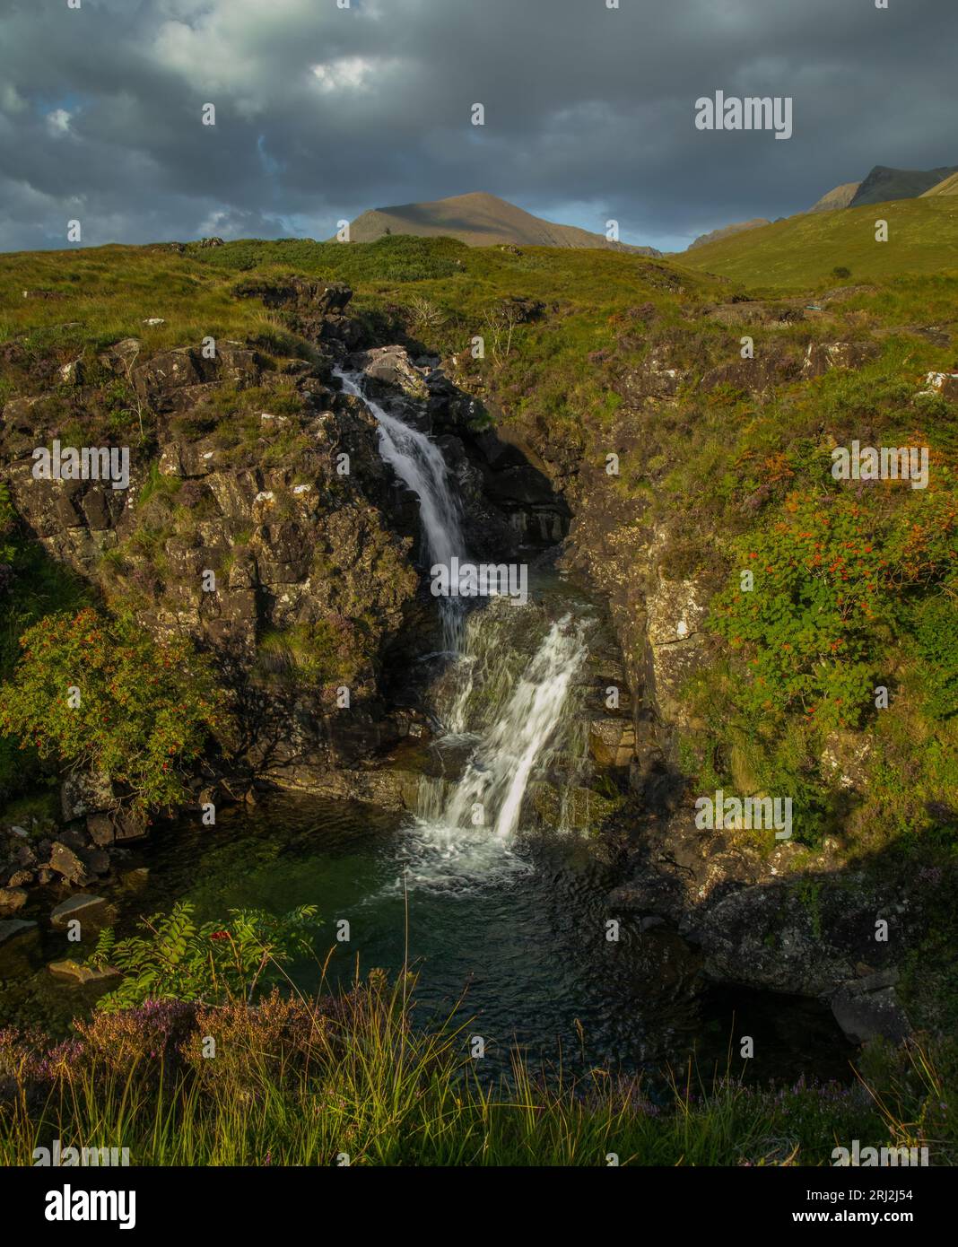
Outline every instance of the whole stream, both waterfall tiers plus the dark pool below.
<path fill-rule="evenodd" d="M 356 377 L 339 377 L 377 418 L 383 459 L 420 500 L 423 561 L 467 560 L 435 443 L 362 395 Z M 418 772 L 414 811 L 277 793 L 222 809 L 215 827 L 185 816 L 131 847 L 121 877 L 99 889 L 119 933 L 176 900 L 192 902 L 200 920 L 314 904 L 317 956 L 289 968 L 297 988 L 321 986 L 329 950 L 333 983 L 373 968 L 395 974 L 408 961 L 419 1021 L 462 1008 L 490 1070 L 508 1067 L 515 1044 L 573 1069 L 635 1071 L 696 1054 L 702 1069 L 723 1070 L 730 1039 L 747 1034 L 752 1077 L 846 1079 L 851 1049 L 826 1008 L 709 988 L 695 951 L 666 925 L 610 912 L 622 880 L 591 834 L 607 792 L 588 748 L 590 712 L 614 678 L 601 606 L 548 566 L 533 572 L 525 605 L 463 602 L 439 599 L 444 648 L 422 663 L 433 738 L 385 759 Z M 51 975 L 46 963 L 76 949 L 41 909 L 27 917 L 41 919 L 40 934 L 0 963 L 0 1025 L 62 1033 L 102 988 Z M 612 940 L 610 919 L 620 923 Z"/>

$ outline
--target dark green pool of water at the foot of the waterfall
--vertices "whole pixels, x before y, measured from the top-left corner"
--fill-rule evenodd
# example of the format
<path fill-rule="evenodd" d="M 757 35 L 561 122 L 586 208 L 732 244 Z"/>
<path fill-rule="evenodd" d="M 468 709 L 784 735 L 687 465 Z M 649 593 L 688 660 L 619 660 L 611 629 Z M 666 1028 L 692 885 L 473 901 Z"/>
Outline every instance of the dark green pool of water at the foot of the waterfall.
<path fill-rule="evenodd" d="M 731 1034 L 756 1040 L 750 1074 L 820 1077 L 847 1074 L 848 1046 L 816 1004 L 760 994 L 709 991 L 697 960 L 677 935 L 611 914 L 609 890 L 620 880 L 574 835 L 519 837 L 500 860 L 443 855 L 408 816 L 317 798 L 277 796 L 221 818 L 215 828 L 183 819 L 131 852 L 126 870 L 146 867 L 148 880 L 122 879 L 101 894 L 116 905 L 119 928 L 138 914 L 195 903 L 200 918 L 231 907 L 282 912 L 319 908 L 318 959 L 332 950 L 329 975 L 351 980 L 373 966 L 397 971 L 407 953 L 419 970 L 419 1018 L 462 1008 L 475 1015 L 489 1067 L 519 1042 L 534 1056 L 560 1055 L 566 1066 L 622 1066 L 680 1061 L 697 1051 L 722 1067 Z M 130 878 L 130 877 L 128 877 Z M 65 1030 L 90 1008 L 96 988 L 55 978 L 46 963 L 76 956 L 77 945 L 49 930 L 51 895 L 27 918 L 41 935 L 21 941 L 0 973 L 0 1019 Z M 622 922 L 606 940 L 610 917 Z M 348 944 L 337 943 L 347 919 Z M 82 951 L 82 945 L 81 945 Z M 9 953 L 9 949 L 7 949 Z M 5 966 L 5 969 L 4 969 Z M 292 968 L 301 988 L 319 985 L 317 959 Z M 733 1021 L 735 1018 L 735 1021 Z M 736 1067 L 742 1062 L 736 1062 Z"/>

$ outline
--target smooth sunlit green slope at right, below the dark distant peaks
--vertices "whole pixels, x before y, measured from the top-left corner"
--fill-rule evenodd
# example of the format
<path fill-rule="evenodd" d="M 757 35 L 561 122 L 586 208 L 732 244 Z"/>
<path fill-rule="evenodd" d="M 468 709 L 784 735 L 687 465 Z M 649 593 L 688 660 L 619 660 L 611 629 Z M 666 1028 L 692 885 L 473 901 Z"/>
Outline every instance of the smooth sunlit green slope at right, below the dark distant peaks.
<path fill-rule="evenodd" d="M 879 219 L 888 222 L 888 242 L 874 241 Z M 957 269 L 958 200 L 897 200 L 803 213 L 696 247 L 682 254 L 682 263 L 747 286 L 782 288 L 833 284 L 836 268 L 862 281 Z"/>

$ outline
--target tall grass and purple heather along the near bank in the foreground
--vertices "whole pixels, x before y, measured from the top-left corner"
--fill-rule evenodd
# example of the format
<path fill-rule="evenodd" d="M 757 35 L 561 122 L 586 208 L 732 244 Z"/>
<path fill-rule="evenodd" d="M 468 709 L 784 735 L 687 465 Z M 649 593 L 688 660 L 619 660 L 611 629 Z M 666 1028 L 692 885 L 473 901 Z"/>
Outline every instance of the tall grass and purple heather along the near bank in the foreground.
<path fill-rule="evenodd" d="M 151 1003 L 75 1026 L 54 1049 L 0 1033 L 0 1163 L 54 1139 L 190 1166 L 821 1166 L 853 1139 L 958 1155 L 954 1054 L 918 1042 L 872 1050 L 847 1087 L 756 1089 L 692 1065 L 655 1085 L 573 1079 L 518 1054 L 489 1079 L 467 1021 L 419 1025 L 414 981 L 382 973 L 317 1000 Z"/>

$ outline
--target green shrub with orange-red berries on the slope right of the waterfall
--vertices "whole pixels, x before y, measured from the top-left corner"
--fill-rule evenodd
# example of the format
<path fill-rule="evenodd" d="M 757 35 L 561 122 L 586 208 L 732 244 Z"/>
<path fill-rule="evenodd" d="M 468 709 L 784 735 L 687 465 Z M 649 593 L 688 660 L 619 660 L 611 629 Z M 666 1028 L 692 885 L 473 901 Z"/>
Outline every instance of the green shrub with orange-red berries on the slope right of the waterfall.
<path fill-rule="evenodd" d="M 788 495 L 777 522 L 735 542 L 736 566 L 752 571 L 755 587 L 736 582 L 714 602 L 717 631 L 746 660 L 742 708 L 857 726 L 882 646 L 909 604 L 952 575 L 954 544 L 956 503 L 946 493 L 912 498 L 891 515 L 849 494 Z"/>

